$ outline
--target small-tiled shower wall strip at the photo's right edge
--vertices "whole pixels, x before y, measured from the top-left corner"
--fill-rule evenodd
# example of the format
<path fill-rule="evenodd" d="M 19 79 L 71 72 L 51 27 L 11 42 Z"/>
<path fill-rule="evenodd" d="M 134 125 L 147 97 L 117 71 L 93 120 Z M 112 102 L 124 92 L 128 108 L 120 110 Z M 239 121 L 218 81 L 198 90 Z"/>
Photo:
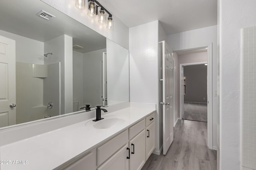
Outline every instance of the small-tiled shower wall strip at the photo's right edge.
<path fill-rule="evenodd" d="M 244 28 L 242 166 L 256 169 L 256 27 Z"/>

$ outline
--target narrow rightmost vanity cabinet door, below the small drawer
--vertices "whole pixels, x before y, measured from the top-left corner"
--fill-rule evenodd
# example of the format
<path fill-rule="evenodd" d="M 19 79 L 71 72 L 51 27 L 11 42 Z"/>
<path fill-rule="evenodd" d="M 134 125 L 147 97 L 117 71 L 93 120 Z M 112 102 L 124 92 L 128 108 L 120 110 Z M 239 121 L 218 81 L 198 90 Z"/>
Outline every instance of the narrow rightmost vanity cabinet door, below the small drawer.
<path fill-rule="evenodd" d="M 146 128 L 146 159 L 155 149 L 155 122 Z"/>

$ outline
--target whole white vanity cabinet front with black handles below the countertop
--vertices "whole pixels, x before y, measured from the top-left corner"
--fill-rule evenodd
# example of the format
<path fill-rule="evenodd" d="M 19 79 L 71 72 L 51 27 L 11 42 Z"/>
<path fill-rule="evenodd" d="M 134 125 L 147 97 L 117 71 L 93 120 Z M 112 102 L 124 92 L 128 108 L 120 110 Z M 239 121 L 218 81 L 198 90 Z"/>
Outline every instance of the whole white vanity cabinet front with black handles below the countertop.
<path fill-rule="evenodd" d="M 155 149 L 154 115 L 92 149 L 65 170 L 140 170 Z"/>

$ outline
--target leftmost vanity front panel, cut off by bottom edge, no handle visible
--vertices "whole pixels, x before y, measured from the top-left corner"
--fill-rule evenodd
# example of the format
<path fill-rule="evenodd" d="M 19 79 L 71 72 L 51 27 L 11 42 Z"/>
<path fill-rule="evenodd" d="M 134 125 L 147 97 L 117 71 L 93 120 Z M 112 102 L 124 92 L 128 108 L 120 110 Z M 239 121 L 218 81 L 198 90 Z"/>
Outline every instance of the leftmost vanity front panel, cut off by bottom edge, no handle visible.
<path fill-rule="evenodd" d="M 96 148 L 64 170 L 96 170 Z"/>

